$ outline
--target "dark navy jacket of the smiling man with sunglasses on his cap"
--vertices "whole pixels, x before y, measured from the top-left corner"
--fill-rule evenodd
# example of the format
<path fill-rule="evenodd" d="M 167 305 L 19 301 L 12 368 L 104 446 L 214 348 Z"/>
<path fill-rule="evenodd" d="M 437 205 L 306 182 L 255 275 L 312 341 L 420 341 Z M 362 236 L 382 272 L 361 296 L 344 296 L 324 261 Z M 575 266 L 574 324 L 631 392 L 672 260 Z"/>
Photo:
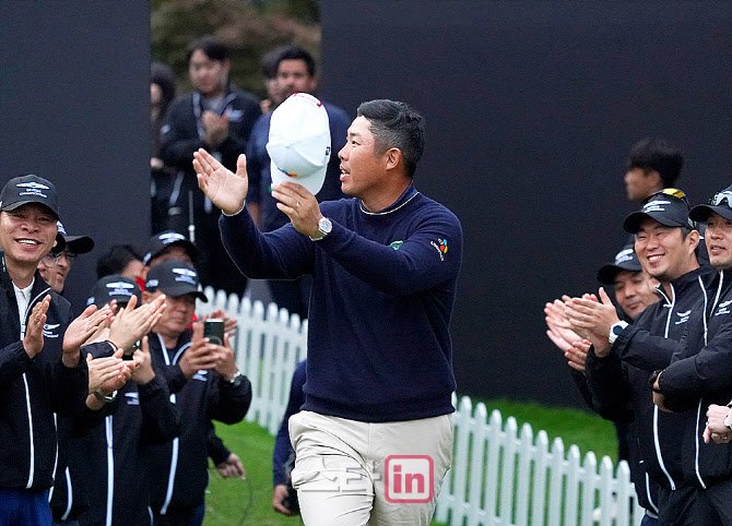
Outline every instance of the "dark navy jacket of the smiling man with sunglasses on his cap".
<path fill-rule="evenodd" d="M 609 356 L 588 354 L 588 384 L 598 410 L 605 418 L 633 422 L 631 478 L 639 502 L 654 513 L 659 509 L 651 481 L 673 490 L 684 485 L 678 429 L 685 416 L 660 411 L 648 379 L 653 370 L 671 362 L 689 316 L 704 310 L 705 285 L 713 273 L 710 266 L 703 266 L 673 280 L 673 299 L 659 288 L 661 301 L 649 306 L 621 333 Z"/>

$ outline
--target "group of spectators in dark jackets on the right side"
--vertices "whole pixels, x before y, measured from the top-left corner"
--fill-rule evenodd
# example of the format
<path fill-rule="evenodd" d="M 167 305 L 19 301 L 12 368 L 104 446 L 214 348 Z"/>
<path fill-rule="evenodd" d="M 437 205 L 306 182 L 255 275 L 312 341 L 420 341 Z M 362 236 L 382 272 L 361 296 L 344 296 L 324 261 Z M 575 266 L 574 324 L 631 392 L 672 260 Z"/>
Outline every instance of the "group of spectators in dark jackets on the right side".
<path fill-rule="evenodd" d="M 615 423 L 642 524 L 729 525 L 732 187 L 692 206 L 674 188 L 682 167 L 666 141 L 633 145 L 625 182 L 641 207 L 598 272 L 615 303 L 603 287 L 548 302 L 547 336 L 587 404 Z"/>

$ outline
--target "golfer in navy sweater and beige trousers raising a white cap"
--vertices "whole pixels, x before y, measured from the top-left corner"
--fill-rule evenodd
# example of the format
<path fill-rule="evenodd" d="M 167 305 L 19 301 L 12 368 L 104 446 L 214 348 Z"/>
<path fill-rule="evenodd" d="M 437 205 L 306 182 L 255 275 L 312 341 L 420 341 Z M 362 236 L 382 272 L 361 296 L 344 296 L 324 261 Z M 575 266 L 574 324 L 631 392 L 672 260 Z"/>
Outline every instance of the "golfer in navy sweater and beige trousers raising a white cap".
<path fill-rule="evenodd" d="M 224 246 L 241 272 L 312 274 L 305 404 L 290 419 L 303 519 L 427 525 L 452 451 L 449 324 L 462 229 L 413 186 L 423 119 L 403 103 L 362 104 L 339 153 L 341 187 L 353 199 L 318 205 L 324 110 L 295 94 L 278 112 L 268 147 L 272 195 L 291 224 L 257 229 L 245 208 L 244 155 L 236 174 L 203 150 L 193 166 L 224 212 Z"/>

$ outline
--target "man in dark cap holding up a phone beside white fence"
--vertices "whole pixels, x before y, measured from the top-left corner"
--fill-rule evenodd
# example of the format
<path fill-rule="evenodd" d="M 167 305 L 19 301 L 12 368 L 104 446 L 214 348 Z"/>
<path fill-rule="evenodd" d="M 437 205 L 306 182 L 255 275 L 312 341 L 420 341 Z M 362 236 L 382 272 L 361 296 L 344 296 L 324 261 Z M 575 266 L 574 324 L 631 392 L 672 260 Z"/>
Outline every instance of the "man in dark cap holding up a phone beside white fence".
<path fill-rule="evenodd" d="M 152 510 L 156 525 L 200 525 L 209 483 L 210 421 L 240 421 L 251 403 L 251 384 L 239 373 L 228 338 L 224 346 L 213 345 L 203 338 L 202 322 L 188 328 L 196 299 L 206 301 L 193 266 L 177 260 L 153 266 L 143 303 L 163 294 L 166 310 L 149 336 L 150 351 L 180 408 L 180 433 L 153 449 Z"/>

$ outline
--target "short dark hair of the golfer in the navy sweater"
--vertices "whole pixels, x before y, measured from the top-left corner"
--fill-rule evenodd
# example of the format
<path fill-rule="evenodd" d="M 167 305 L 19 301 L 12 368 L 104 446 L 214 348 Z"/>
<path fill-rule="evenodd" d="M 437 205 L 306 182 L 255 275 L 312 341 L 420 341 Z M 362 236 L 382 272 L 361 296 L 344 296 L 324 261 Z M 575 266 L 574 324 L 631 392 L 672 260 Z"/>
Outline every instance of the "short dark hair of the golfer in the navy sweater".
<path fill-rule="evenodd" d="M 424 118 L 409 105 L 388 99 L 362 103 L 357 115 L 370 123 L 377 151 L 383 153 L 389 148 L 400 150 L 406 175 L 414 177 L 424 152 Z"/>

